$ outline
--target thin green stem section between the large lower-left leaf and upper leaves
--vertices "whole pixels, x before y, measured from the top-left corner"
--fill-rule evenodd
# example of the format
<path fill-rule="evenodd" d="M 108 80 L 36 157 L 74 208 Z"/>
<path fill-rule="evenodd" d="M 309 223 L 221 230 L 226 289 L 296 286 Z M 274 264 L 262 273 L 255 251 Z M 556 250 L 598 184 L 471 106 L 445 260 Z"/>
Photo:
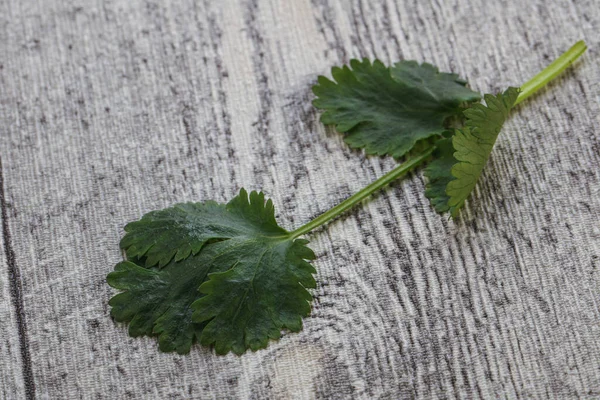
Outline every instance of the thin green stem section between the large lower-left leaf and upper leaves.
<path fill-rule="evenodd" d="M 331 221 L 332 219 L 334 219 L 335 217 L 337 217 L 344 211 L 348 210 L 349 208 L 352 208 L 357 203 L 360 203 L 362 200 L 364 200 L 366 197 L 369 197 L 374 192 L 389 185 L 391 182 L 395 181 L 400 176 L 406 174 L 408 171 L 410 171 L 411 169 L 415 168 L 416 166 L 420 165 L 425 160 L 427 160 L 427 158 L 431 155 L 433 150 L 434 150 L 434 147 L 431 147 L 430 149 L 428 149 L 427 151 L 425 151 L 418 157 L 415 157 L 415 158 L 405 162 L 404 164 L 400 164 L 399 166 L 397 166 L 396 168 L 394 168 L 387 174 L 383 175 L 381 178 L 377 179 L 375 182 L 373 182 L 370 185 L 368 185 L 367 187 L 363 188 L 356 194 L 348 197 L 346 200 L 344 200 L 337 206 L 324 212 L 323 214 L 319 215 L 317 218 L 313 219 L 312 221 L 308 222 L 307 224 L 302 225 L 300 228 L 291 232 L 292 239 L 295 239 L 298 236 L 304 235 L 305 233 L 308 233 L 308 232 L 318 228 L 319 226 L 326 224 L 327 222 Z"/>

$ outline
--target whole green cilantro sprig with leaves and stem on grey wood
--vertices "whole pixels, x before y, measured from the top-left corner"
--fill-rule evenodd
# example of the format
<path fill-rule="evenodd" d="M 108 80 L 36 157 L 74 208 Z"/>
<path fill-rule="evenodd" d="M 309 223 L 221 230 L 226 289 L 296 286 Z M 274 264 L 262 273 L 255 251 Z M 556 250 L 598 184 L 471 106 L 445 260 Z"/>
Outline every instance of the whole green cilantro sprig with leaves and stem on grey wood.
<path fill-rule="evenodd" d="M 521 86 L 486 105 L 458 76 L 429 64 L 353 60 L 319 77 L 315 106 L 322 121 L 367 154 L 407 161 L 293 231 L 275 220 L 271 200 L 244 189 L 227 204 L 185 203 L 144 215 L 125 227 L 126 261 L 107 281 L 122 292 L 111 315 L 131 336 L 157 336 L 162 351 L 188 353 L 193 343 L 219 354 L 267 346 L 282 329 L 299 331 L 310 312 L 315 258 L 299 237 L 331 221 L 416 166 L 425 169 L 426 196 L 439 212 L 458 215 L 492 151 L 509 111 L 556 77 L 586 47 L 576 43 Z M 468 107 L 465 109 L 465 107 Z M 464 126 L 461 115 L 466 117 Z"/>

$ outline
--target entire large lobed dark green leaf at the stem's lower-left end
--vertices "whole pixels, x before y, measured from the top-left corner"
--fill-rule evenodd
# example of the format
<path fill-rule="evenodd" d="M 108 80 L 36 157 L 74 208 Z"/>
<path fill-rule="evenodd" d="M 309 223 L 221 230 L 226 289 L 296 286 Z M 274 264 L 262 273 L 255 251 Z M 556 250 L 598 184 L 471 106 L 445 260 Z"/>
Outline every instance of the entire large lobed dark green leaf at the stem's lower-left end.
<path fill-rule="evenodd" d="M 314 254 L 277 225 L 263 193 L 178 204 L 127 230 L 121 244 L 139 265 L 124 261 L 108 275 L 124 290 L 110 300 L 111 314 L 131 336 L 158 336 L 162 351 L 187 353 L 199 339 L 241 354 L 299 330 L 310 312 Z"/>

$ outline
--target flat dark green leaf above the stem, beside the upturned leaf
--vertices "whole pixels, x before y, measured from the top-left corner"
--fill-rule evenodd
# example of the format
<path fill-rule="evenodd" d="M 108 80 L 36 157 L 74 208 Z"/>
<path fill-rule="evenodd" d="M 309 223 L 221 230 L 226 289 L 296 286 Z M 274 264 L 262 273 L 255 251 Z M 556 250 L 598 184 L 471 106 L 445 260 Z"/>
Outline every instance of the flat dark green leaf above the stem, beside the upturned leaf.
<path fill-rule="evenodd" d="M 335 82 L 320 76 L 313 104 L 325 110 L 324 124 L 335 125 L 346 143 L 367 154 L 403 157 L 420 140 L 441 135 L 465 103 L 481 98 L 466 81 L 430 64 L 402 61 L 388 68 L 364 59 L 350 67 L 334 67 Z"/>

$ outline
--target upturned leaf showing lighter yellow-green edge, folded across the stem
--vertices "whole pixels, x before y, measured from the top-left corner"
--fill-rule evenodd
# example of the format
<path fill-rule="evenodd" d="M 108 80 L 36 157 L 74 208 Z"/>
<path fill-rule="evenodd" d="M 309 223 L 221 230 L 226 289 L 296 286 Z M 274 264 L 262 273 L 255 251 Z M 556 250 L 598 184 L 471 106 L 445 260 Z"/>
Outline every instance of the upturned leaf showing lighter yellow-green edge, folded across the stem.
<path fill-rule="evenodd" d="M 452 146 L 448 139 L 437 143 L 435 158 L 425 169 L 429 180 L 425 195 L 437 211 L 458 215 L 475 188 L 518 96 L 519 89 L 513 87 L 496 96 L 486 94 L 485 106 L 475 104 L 465 110 L 465 128 L 455 131 Z"/>

